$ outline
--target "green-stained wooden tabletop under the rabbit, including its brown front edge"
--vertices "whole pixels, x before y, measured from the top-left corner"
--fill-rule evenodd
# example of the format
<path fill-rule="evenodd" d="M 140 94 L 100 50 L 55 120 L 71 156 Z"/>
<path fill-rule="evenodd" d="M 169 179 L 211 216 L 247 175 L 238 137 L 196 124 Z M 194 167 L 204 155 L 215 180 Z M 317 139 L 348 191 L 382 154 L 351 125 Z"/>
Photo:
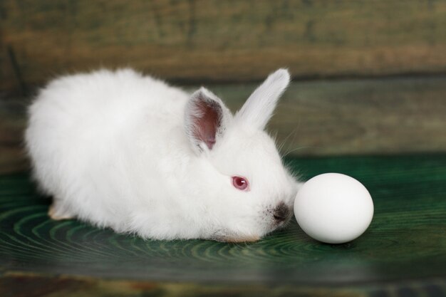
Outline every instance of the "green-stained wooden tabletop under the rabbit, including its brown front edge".
<path fill-rule="evenodd" d="M 3 175 L 0 296 L 446 294 L 446 155 L 287 163 L 305 179 L 343 172 L 363 182 L 375 204 L 368 231 L 340 245 L 310 239 L 295 222 L 254 244 L 143 241 L 52 221 L 50 200 L 36 194 L 28 174 Z"/>

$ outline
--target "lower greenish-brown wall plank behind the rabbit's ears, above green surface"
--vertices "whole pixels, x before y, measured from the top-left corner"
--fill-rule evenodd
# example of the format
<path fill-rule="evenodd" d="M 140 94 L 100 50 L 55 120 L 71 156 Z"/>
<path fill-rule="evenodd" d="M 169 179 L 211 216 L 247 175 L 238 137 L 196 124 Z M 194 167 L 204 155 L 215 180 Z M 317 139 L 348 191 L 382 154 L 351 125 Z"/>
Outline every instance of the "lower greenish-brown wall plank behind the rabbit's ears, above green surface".
<path fill-rule="evenodd" d="M 207 85 L 237 110 L 256 84 Z M 192 87 L 188 87 L 192 90 Z M 284 154 L 446 152 L 446 76 L 292 83 L 269 131 Z M 30 98 L 0 98 L 0 172 L 26 170 Z"/>

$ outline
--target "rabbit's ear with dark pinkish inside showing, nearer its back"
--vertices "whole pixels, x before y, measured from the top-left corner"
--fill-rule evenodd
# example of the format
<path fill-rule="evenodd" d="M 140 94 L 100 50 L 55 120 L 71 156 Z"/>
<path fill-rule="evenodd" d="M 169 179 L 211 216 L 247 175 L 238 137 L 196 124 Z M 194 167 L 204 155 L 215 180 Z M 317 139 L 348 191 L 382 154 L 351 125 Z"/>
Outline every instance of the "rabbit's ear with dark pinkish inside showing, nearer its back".
<path fill-rule="evenodd" d="M 190 96 L 185 113 L 185 130 L 197 153 L 212 150 L 232 117 L 222 100 L 206 88 Z"/>

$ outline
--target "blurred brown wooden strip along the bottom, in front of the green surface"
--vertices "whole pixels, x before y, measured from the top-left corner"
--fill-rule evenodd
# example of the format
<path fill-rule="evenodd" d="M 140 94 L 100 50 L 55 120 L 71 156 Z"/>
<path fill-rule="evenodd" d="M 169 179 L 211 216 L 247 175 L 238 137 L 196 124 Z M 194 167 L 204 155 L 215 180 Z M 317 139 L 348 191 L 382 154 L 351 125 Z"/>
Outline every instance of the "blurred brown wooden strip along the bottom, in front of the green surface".
<path fill-rule="evenodd" d="M 182 283 L 170 281 L 129 281 L 121 279 L 92 278 L 85 276 L 48 276 L 36 273 L 5 273 L 0 276 L 2 296 L 14 297 L 122 297 L 122 296 L 308 296 L 308 297 L 376 297 L 438 296 L 446 292 L 442 279 L 429 282 L 410 282 L 382 286 L 284 286 L 269 283 L 219 284 Z M 405 293 L 406 295 L 403 295 Z M 389 295 L 388 295 L 389 294 Z M 410 294 L 410 295 L 409 295 Z M 436 294 L 436 295 L 435 295 Z"/>

